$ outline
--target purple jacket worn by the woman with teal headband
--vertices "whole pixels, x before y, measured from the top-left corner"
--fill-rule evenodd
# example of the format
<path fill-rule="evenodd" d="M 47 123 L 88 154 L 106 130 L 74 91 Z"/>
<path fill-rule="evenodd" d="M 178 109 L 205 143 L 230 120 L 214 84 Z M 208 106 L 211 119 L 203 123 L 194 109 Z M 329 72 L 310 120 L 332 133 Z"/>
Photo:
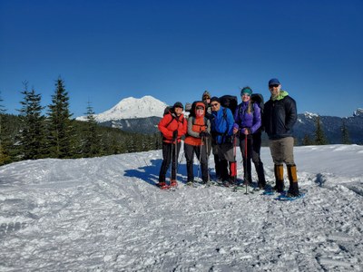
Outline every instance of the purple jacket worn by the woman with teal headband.
<path fill-rule="evenodd" d="M 241 102 L 234 112 L 234 126 L 240 130 L 240 133 L 244 133 L 245 129 L 249 129 L 250 133 L 254 133 L 259 130 L 261 126 L 260 107 L 256 103 L 252 103 L 253 110 L 248 113 L 249 102 Z"/>

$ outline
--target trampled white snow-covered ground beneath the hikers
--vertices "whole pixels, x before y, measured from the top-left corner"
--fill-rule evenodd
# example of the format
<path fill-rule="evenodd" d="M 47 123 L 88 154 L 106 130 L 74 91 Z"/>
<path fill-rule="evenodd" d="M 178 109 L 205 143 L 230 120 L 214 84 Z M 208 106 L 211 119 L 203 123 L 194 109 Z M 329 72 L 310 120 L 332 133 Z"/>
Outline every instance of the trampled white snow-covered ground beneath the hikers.
<path fill-rule="evenodd" d="M 291 202 L 160 190 L 161 151 L 5 165 L 0 271 L 362 271 L 362 159 L 357 145 L 295 148 L 307 193 Z"/>

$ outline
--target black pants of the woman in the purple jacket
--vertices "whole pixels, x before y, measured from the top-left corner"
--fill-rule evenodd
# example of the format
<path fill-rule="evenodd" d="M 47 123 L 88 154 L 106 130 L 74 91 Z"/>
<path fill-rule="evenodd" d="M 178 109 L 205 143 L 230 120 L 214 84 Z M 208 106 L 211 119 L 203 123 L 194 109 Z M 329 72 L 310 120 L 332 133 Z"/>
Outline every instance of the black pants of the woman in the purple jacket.
<path fill-rule="evenodd" d="M 261 147 L 261 133 L 254 133 L 247 136 L 247 160 L 246 160 L 246 136 L 240 135 L 240 152 L 243 158 L 244 180 L 252 182 L 251 175 L 251 163 L 253 164 L 257 172 L 257 176 L 260 184 L 266 184 L 265 172 L 263 170 L 263 163 L 260 160 L 260 147 Z"/>

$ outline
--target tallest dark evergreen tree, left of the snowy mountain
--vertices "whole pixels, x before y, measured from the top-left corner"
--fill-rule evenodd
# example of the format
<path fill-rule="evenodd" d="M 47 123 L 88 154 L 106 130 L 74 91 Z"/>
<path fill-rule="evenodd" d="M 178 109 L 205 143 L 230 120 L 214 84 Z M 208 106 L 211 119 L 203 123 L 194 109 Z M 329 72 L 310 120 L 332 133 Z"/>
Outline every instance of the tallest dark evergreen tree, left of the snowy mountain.
<path fill-rule="evenodd" d="M 69 112 L 69 97 L 65 91 L 64 81 L 58 78 L 52 104 L 48 116 L 48 145 L 49 156 L 52 158 L 72 158 L 74 155 L 74 128 Z"/>

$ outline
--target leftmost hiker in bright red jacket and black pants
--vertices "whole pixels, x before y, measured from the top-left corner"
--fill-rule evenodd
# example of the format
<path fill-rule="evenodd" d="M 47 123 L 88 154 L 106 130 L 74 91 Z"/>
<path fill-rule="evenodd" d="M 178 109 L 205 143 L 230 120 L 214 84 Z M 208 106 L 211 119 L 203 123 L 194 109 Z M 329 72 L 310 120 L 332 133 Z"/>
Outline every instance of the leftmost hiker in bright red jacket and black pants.
<path fill-rule="evenodd" d="M 182 102 L 175 102 L 169 113 L 166 113 L 158 124 L 159 131 L 162 132 L 162 167 L 159 173 L 158 186 L 166 189 L 166 172 L 172 162 L 172 178 L 169 186 L 176 187 L 176 173 L 178 167 L 179 151 L 181 150 L 181 138 L 187 132 L 187 121 L 182 114 Z"/>

